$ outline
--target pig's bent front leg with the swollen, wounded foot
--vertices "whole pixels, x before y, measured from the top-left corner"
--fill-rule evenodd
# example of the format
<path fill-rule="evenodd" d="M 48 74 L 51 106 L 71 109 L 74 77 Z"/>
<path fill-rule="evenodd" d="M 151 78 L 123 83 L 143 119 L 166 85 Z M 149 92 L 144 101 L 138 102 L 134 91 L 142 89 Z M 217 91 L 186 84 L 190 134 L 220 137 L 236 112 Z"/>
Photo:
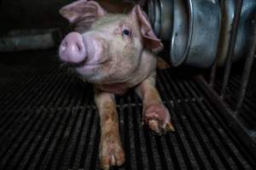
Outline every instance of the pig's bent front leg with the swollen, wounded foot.
<path fill-rule="evenodd" d="M 154 88 L 155 77 L 148 77 L 136 88 L 138 96 L 143 99 L 143 121 L 156 133 L 175 131 L 171 116 L 166 106 L 162 104 L 160 94 Z"/>

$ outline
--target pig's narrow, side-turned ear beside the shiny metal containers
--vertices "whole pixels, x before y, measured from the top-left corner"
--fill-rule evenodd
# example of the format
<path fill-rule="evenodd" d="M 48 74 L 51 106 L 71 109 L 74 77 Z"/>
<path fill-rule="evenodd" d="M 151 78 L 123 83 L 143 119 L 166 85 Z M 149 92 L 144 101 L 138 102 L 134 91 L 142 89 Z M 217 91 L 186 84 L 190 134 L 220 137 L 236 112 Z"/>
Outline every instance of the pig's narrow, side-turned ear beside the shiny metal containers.
<path fill-rule="evenodd" d="M 150 26 L 147 14 L 145 14 L 139 5 L 132 8 L 131 15 L 132 17 L 137 18 L 139 22 L 141 33 L 143 35 L 144 46 L 154 52 L 158 52 L 164 48 L 163 44 L 160 42 L 160 39 L 155 36 L 154 31 Z"/>

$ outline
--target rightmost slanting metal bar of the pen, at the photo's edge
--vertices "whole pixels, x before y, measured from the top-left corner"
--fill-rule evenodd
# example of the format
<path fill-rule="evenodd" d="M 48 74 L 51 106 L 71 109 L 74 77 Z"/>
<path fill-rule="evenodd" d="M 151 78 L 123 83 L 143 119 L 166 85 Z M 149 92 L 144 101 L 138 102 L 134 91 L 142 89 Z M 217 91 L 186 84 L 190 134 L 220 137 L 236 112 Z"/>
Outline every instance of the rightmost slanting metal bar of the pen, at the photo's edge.
<path fill-rule="evenodd" d="M 244 96 L 247 91 L 247 85 L 249 82 L 250 73 L 253 67 L 253 59 L 254 59 L 254 53 L 256 48 L 256 16 L 253 18 L 253 41 L 252 41 L 252 47 L 250 49 L 250 52 L 247 56 L 244 70 L 241 77 L 241 86 L 239 89 L 237 104 L 236 104 L 236 111 L 239 111 L 242 105 L 242 102 L 244 100 Z"/>

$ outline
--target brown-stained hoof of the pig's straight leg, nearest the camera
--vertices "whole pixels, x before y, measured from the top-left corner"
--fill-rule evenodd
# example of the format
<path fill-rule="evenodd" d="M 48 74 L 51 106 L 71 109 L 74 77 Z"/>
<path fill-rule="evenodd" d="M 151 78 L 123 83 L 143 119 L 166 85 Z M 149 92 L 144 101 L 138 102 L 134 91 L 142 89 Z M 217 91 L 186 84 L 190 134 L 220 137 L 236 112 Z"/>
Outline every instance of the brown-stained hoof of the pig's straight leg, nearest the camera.
<path fill-rule="evenodd" d="M 113 137 L 107 136 L 101 140 L 100 144 L 100 164 L 102 169 L 109 169 L 112 166 L 120 166 L 125 162 L 125 152 L 120 141 Z"/>

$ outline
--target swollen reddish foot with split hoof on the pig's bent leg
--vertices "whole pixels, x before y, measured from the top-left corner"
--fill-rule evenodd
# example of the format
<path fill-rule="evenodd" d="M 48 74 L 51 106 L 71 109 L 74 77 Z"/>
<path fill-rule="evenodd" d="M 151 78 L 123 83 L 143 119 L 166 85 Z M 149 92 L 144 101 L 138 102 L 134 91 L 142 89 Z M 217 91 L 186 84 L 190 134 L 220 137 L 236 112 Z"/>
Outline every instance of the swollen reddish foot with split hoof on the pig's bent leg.
<path fill-rule="evenodd" d="M 158 134 L 175 131 L 171 123 L 171 116 L 165 105 L 149 105 L 143 113 L 143 120 Z"/>

